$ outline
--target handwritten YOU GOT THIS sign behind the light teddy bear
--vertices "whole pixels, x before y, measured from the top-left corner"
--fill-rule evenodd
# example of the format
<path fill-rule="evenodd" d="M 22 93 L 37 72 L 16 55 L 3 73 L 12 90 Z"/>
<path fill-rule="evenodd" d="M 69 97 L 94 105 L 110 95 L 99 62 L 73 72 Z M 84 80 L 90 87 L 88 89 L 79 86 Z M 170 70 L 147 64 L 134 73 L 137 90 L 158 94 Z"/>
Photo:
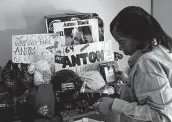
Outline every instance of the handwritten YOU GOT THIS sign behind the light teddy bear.
<path fill-rule="evenodd" d="M 38 47 L 59 48 L 63 44 L 60 34 L 32 34 L 12 36 L 12 61 L 33 63 L 34 52 Z"/>

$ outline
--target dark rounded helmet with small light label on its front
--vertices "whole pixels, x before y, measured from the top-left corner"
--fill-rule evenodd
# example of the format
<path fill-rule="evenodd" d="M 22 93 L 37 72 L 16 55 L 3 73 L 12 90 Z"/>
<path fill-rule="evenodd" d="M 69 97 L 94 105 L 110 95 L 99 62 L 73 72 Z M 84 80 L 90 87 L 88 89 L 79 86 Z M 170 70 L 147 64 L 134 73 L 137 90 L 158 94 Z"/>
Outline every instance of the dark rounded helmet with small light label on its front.
<path fill-rule="evenodd" d="M 56 106 L 61 111 L 76 109 L 76 100 L 82 87 L 80 77 L 71 70 L 60 70 L 52 78 Z"/>

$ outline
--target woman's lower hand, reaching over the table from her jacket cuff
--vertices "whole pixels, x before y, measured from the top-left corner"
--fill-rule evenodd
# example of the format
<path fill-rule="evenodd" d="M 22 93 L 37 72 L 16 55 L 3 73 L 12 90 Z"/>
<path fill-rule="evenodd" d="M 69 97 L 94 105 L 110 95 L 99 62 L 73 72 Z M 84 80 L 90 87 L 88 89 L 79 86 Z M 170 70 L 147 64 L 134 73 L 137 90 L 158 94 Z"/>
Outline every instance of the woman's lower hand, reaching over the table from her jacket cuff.
<path fill-rule="evenodd" d="M 103 115 L 109 115 L 111 113 L 111 107 L 113 104 L 114 99 L 110 97 L 103 97 L 99 99 L 93 107 L 95 110 Z"/>

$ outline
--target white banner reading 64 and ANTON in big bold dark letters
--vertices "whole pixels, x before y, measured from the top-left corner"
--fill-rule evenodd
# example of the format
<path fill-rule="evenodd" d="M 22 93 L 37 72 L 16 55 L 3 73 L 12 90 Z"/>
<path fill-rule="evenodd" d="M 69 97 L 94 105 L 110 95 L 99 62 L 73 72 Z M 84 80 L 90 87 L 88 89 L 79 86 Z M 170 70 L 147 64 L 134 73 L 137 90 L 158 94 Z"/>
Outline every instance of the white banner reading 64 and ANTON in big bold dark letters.
<path fill-rule="evenodd" d="M 111 41 L 71 45 L 56 49 L 56 71 L 63 68 L 76 72 L 91 70 L 99 63 L 114 61 Z"/>

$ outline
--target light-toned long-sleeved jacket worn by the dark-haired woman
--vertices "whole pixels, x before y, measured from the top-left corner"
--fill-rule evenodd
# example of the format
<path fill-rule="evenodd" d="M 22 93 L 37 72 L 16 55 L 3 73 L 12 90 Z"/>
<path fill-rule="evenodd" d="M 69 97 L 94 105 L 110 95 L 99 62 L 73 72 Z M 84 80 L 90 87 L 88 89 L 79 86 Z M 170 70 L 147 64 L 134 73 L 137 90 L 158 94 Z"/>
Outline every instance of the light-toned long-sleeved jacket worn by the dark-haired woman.
<path fill-rule="evenodd" d="M 172 53 L 157 46 L 131 59 L 128 82 L 112 112 L 121 114 L 121 122 L 172 122 Z"/>

